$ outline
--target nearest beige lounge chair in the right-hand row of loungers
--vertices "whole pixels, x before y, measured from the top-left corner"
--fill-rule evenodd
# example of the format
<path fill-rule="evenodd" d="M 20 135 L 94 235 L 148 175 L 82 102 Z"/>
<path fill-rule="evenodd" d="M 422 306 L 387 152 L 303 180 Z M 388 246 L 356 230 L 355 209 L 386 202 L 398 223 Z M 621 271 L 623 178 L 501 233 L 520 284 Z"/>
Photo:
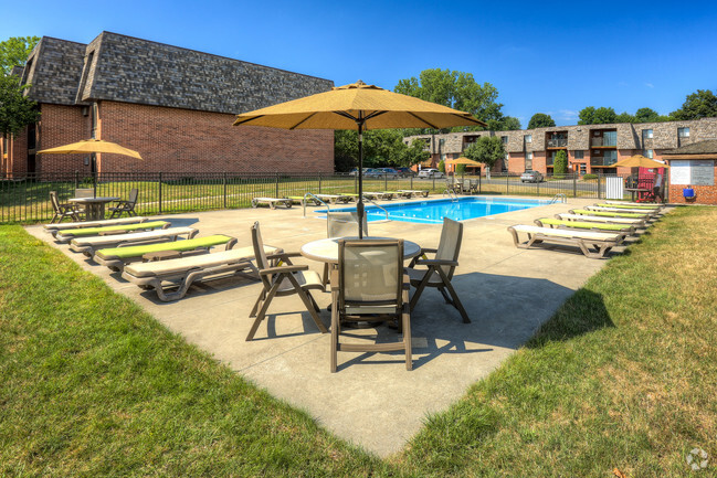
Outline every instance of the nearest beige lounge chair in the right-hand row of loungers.
<path fill-rule="evenodd" d="M 592 231 L 577 231 L 569 229 L 538 227 L 536 225 L 518 224 L 508 227 L 516 247 L 529 248 L 534 244 L 544 242 L 567 244 L 580 248 L 586 257 L 602 258 L 614 246 L 622 244 L 625 238 L 623 233 L 607 233 Z M 528 235 L 526 242 L 520 242 L 518 233 Z M 591 251 L 591 247 L 595 251 Z"/>

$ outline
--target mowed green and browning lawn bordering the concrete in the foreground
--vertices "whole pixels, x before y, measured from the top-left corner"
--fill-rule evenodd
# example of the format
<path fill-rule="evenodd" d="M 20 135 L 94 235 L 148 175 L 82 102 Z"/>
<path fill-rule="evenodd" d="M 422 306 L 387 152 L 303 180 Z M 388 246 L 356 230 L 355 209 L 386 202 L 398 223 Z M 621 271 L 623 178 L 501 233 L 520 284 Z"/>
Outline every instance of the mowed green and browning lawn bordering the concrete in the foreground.
<path fill-rule="evenodd" d="M 2 226 L 0 476 L 715 476 L 715 208 L 666 215 L 379 459 Z"/>

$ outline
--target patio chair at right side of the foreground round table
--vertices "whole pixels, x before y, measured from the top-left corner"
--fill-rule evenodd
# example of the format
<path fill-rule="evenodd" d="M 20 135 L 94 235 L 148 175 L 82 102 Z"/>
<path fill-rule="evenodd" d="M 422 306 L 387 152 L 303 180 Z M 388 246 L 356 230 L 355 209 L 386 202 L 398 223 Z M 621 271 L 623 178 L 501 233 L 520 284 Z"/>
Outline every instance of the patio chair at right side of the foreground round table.
<path fill-rule="evenodd" d="M 444 217 L 439 248 L 421 247 L 421 253 L 409 264 L 408 273 L 411 278 L 411 285 L 415 287 L 413 297 L 411 297 L 411 311 L 415 308 L 421 294 L 423 294 L 423 289 L 426 287 L 435 287 L 445 299 L 445 302 L 452 305 L 461 312 L 463 322 L 471 322 L 468 314 L 465 311 L 463 304 L 461 304 L 461 299 L 458 299 L 458 294 L 451 284 L 455 268 L 458 266 L 458 254 L 461 253 L 462 242 L 463 223 Z M 426 253 L 435 255 L 432 259 L 429 259 L 425 255 Z M 417 269 L 415 266 L 426 266 L 428 269 Z"/>

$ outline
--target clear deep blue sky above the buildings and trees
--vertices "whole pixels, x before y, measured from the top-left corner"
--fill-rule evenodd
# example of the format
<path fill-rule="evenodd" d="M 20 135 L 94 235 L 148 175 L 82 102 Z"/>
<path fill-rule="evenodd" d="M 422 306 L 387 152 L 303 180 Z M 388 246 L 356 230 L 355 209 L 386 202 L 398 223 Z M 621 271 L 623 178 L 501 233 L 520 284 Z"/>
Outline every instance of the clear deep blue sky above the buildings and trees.
<path fill-rule="evenodd" d="M 0 40 L 102 31 L 392 89 L 426 68 L 493 84 L 523 127 L 586 106 L 668 114 L 717 89 L 717 2 L 0 0 Z M 238 111 L 241 113 L 241 111 Z"/>

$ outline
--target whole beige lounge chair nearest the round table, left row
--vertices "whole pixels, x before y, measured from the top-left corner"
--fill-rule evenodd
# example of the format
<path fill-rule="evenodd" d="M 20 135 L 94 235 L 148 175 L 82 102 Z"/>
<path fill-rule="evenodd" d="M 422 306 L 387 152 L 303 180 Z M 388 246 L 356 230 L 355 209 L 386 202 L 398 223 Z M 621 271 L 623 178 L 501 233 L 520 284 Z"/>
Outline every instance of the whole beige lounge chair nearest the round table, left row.
<path fill-rule="evenodd" d="M 282 252 L 272 246 L 264 246 L 264 251 L 267 255 Z M 176 259 L 129 264 L 122 277 L 143 289 L 155 289 L 159 300 L 167 302 L 184 297 L 196 282 L 256 273 L 253 259 L 254 247 L 239 247 Z"/>

